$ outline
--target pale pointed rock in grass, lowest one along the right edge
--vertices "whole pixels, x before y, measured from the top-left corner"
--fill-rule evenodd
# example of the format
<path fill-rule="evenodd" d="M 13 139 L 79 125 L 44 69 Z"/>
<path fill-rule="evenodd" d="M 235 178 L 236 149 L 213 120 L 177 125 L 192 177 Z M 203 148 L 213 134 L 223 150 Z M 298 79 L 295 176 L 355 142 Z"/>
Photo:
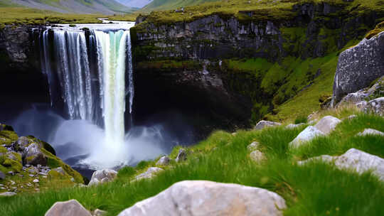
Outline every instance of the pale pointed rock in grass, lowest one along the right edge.
<path fill-rule="evenodd" d="M 321 160 L 324 162 L 334 163 L 340 169 L 353 170 L 358 173 L 373 171 L 380 180 L 384 180 L 384 159 L 371 155 L 356 148 L 349 149 L 341 156 L 319 156 L 310 158 L 306 161 L 299 161 L 299 164 L 308 163 L 309 161 Z"/>

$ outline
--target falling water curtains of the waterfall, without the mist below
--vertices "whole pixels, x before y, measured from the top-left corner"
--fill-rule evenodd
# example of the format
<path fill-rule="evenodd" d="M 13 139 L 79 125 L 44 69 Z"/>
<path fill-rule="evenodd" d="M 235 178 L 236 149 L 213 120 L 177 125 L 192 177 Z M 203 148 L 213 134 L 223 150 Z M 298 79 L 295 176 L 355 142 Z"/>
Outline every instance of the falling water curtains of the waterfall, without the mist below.
<path fill-rule="evenodd" d="M 102 126 L 107 145 L 124 144 L 125 98 L 130 126 L 134 99 L 129 28 L 51 28 L 40 38 L 41 68 L 50 85 L 51 104 L 61 101 L 69 119 Z M 55 98 L 58 91 L 60 99 Z"/>

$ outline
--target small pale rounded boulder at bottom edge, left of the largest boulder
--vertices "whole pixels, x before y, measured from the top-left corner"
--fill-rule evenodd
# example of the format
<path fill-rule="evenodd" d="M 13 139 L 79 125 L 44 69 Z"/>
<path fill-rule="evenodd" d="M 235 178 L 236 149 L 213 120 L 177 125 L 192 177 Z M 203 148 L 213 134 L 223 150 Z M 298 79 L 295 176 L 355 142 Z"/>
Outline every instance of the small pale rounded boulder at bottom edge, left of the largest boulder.
<path fill-rule="evenodd" d="M 92 216 L 78 200 L 55 202 L 45 216 Z"/>

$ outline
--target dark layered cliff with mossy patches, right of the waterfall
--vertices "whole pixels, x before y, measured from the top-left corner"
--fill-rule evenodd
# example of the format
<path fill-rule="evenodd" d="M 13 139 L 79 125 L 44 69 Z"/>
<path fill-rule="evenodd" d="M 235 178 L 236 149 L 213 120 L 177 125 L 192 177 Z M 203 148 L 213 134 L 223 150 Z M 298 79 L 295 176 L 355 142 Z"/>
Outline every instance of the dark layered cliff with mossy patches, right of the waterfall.
<path fill-rule="evenodd" d="M 249 119 L 257 121 L 267 114 L 260 111 L 261 107 L 272 112 L 311 85 L 321 70 L 309 72 L 309 80 L 305 81 L 308 84 L 277 92 L 278 87 L 261 87 L 263 75 L 237 72 L 225 60 L 262 58 L 280 64 L 288 57 L 304 61 L 337 53 L 348 42 L 361 40 L 383 17 L 375 11 L 349 11 L 345 6 L 297 4 L 290 18 L 260 18 L 252 11 L 244 11 L 237 17 L 212 14 L 193 21 L 158 23 L 151 16 L 139 16 L 137 26 L 131 30 L 137 77 L 156 77 L 157 85 L 173 87 L 169 95 L 186 86 L 189 92 L 203 92 L 204 97 L 196 94 L 199 96 L 191 103 L 203 104 L 200 99 L 204 99 L 208 107 L 217 107 L 222 112 L 220 119 L 215 119 L 214 111 L 211 116 L 219 125 L 233 121 L 230 117 L 237 119 L 239 126 L 247 125 Z M 286 73 L 282 77 L 291 72 Z M 207 76 L 209 80 L 220 80 L 216 82 L 220 85 L 207 82 Z M 286 82 L 287 78 L 270 85 L 282 86 Z"/>

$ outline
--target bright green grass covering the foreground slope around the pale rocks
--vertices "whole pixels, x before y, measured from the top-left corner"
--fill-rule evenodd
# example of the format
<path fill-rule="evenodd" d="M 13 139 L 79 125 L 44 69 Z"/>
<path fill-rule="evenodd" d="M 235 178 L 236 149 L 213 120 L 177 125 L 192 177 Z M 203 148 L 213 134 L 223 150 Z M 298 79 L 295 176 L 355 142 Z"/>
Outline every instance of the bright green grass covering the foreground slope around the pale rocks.
<path fill-rule="evenodd" d="M 297 166 L 298 160 L 309 156 L 339 155 L 348 148 L 383 156 L 383 138 L 353 137 L 368 126 L 384 131 L 383 117 L 359 114 L 356 119 L 339 124 L 328 139 L 317 139 L 311 143 L 311 148 L 294 151 L 288 144 L 305 126 L 238 131 L 235 136 L 216 131 L 205 141 L 188 148 L 186 162 L 166 166 L 166 171 L 152 180 L 130 182 L 134 175 L 156 162 L 146 161 L 139 165 L 141 171 L 123 168 L 114 182 L 105 185 L 1 198 L 0 212 L 5 215 L 28 215 L 29 212 L 43 215 L 56 201 L 77 199 L 89 210 L 99 208 L 107 210 L 108 215 L 117 215 L 180 180 L 213 180 L 272 190 L 287 201 L 284 215 L 383 215 L 384 184 L 369 172 L 358 175 L 321 162 Z M 254 163 L 250 160 L 247 145 L 252 141 L 260 142 L 259 150 L 265 153 L 266 161 Z M 176 157 L 178 148 L 171 153 L 171 158 Z"/>

